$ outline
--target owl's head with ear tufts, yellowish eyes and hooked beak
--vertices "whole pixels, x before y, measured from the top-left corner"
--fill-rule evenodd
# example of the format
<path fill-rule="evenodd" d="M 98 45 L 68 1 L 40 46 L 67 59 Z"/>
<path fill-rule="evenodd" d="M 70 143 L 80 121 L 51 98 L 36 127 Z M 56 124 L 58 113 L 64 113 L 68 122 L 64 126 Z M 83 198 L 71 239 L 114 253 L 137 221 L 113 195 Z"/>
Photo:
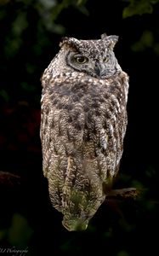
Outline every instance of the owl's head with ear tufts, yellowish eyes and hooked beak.
<path fill-rule="evenodd" d="M 121 70 L 113 52 L 117 40 L 117 36 L 106 34 L 98 40 L 63 38 L 58 59 L 61 63 L 61 57 L 64 57 L 65 65 L 63 63 L 60 67 L 64 67 L 65 71 L 88 73 L 99 79 L 110 78 Z"/>

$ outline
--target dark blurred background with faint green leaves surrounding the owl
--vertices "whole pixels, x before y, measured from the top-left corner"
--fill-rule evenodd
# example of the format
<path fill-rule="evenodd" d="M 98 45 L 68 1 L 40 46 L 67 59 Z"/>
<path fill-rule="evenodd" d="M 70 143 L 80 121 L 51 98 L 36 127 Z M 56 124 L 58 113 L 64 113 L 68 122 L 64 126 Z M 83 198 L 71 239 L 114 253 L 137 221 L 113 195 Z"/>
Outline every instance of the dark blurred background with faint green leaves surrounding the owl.
<path fill-rule="evenodd" d="M 0 1 L 0 253 L 157 255 L 159 1 Z M 40 78 L 60 38 L 116 34 L 130 77 L 128 130 L 115 188 L 136 200 L 103 204 L 88 230 L 68 232 L 43 177 Z M 8 250 L 8 252 L 7 252 Z M 20 254 L 20 253 L 19 253 Z M 25 252 L 24 252 L 25 254 Z M 14 254 L 13 254 L 14 255 Z"/>

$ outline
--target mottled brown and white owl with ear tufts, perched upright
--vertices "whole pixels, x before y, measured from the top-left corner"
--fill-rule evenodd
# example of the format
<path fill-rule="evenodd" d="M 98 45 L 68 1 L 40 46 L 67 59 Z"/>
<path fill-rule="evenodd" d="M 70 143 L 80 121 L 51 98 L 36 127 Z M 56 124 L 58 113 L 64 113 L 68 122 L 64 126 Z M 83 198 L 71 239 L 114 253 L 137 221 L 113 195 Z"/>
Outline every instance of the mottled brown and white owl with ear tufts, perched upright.
<path fill-rule="evenodd" d="M 67 230 L 87 228 L 122 157 L 128 74 L 113 51 L 117 39 L 63 38 L 43 73 L 43 173 Z"/>

